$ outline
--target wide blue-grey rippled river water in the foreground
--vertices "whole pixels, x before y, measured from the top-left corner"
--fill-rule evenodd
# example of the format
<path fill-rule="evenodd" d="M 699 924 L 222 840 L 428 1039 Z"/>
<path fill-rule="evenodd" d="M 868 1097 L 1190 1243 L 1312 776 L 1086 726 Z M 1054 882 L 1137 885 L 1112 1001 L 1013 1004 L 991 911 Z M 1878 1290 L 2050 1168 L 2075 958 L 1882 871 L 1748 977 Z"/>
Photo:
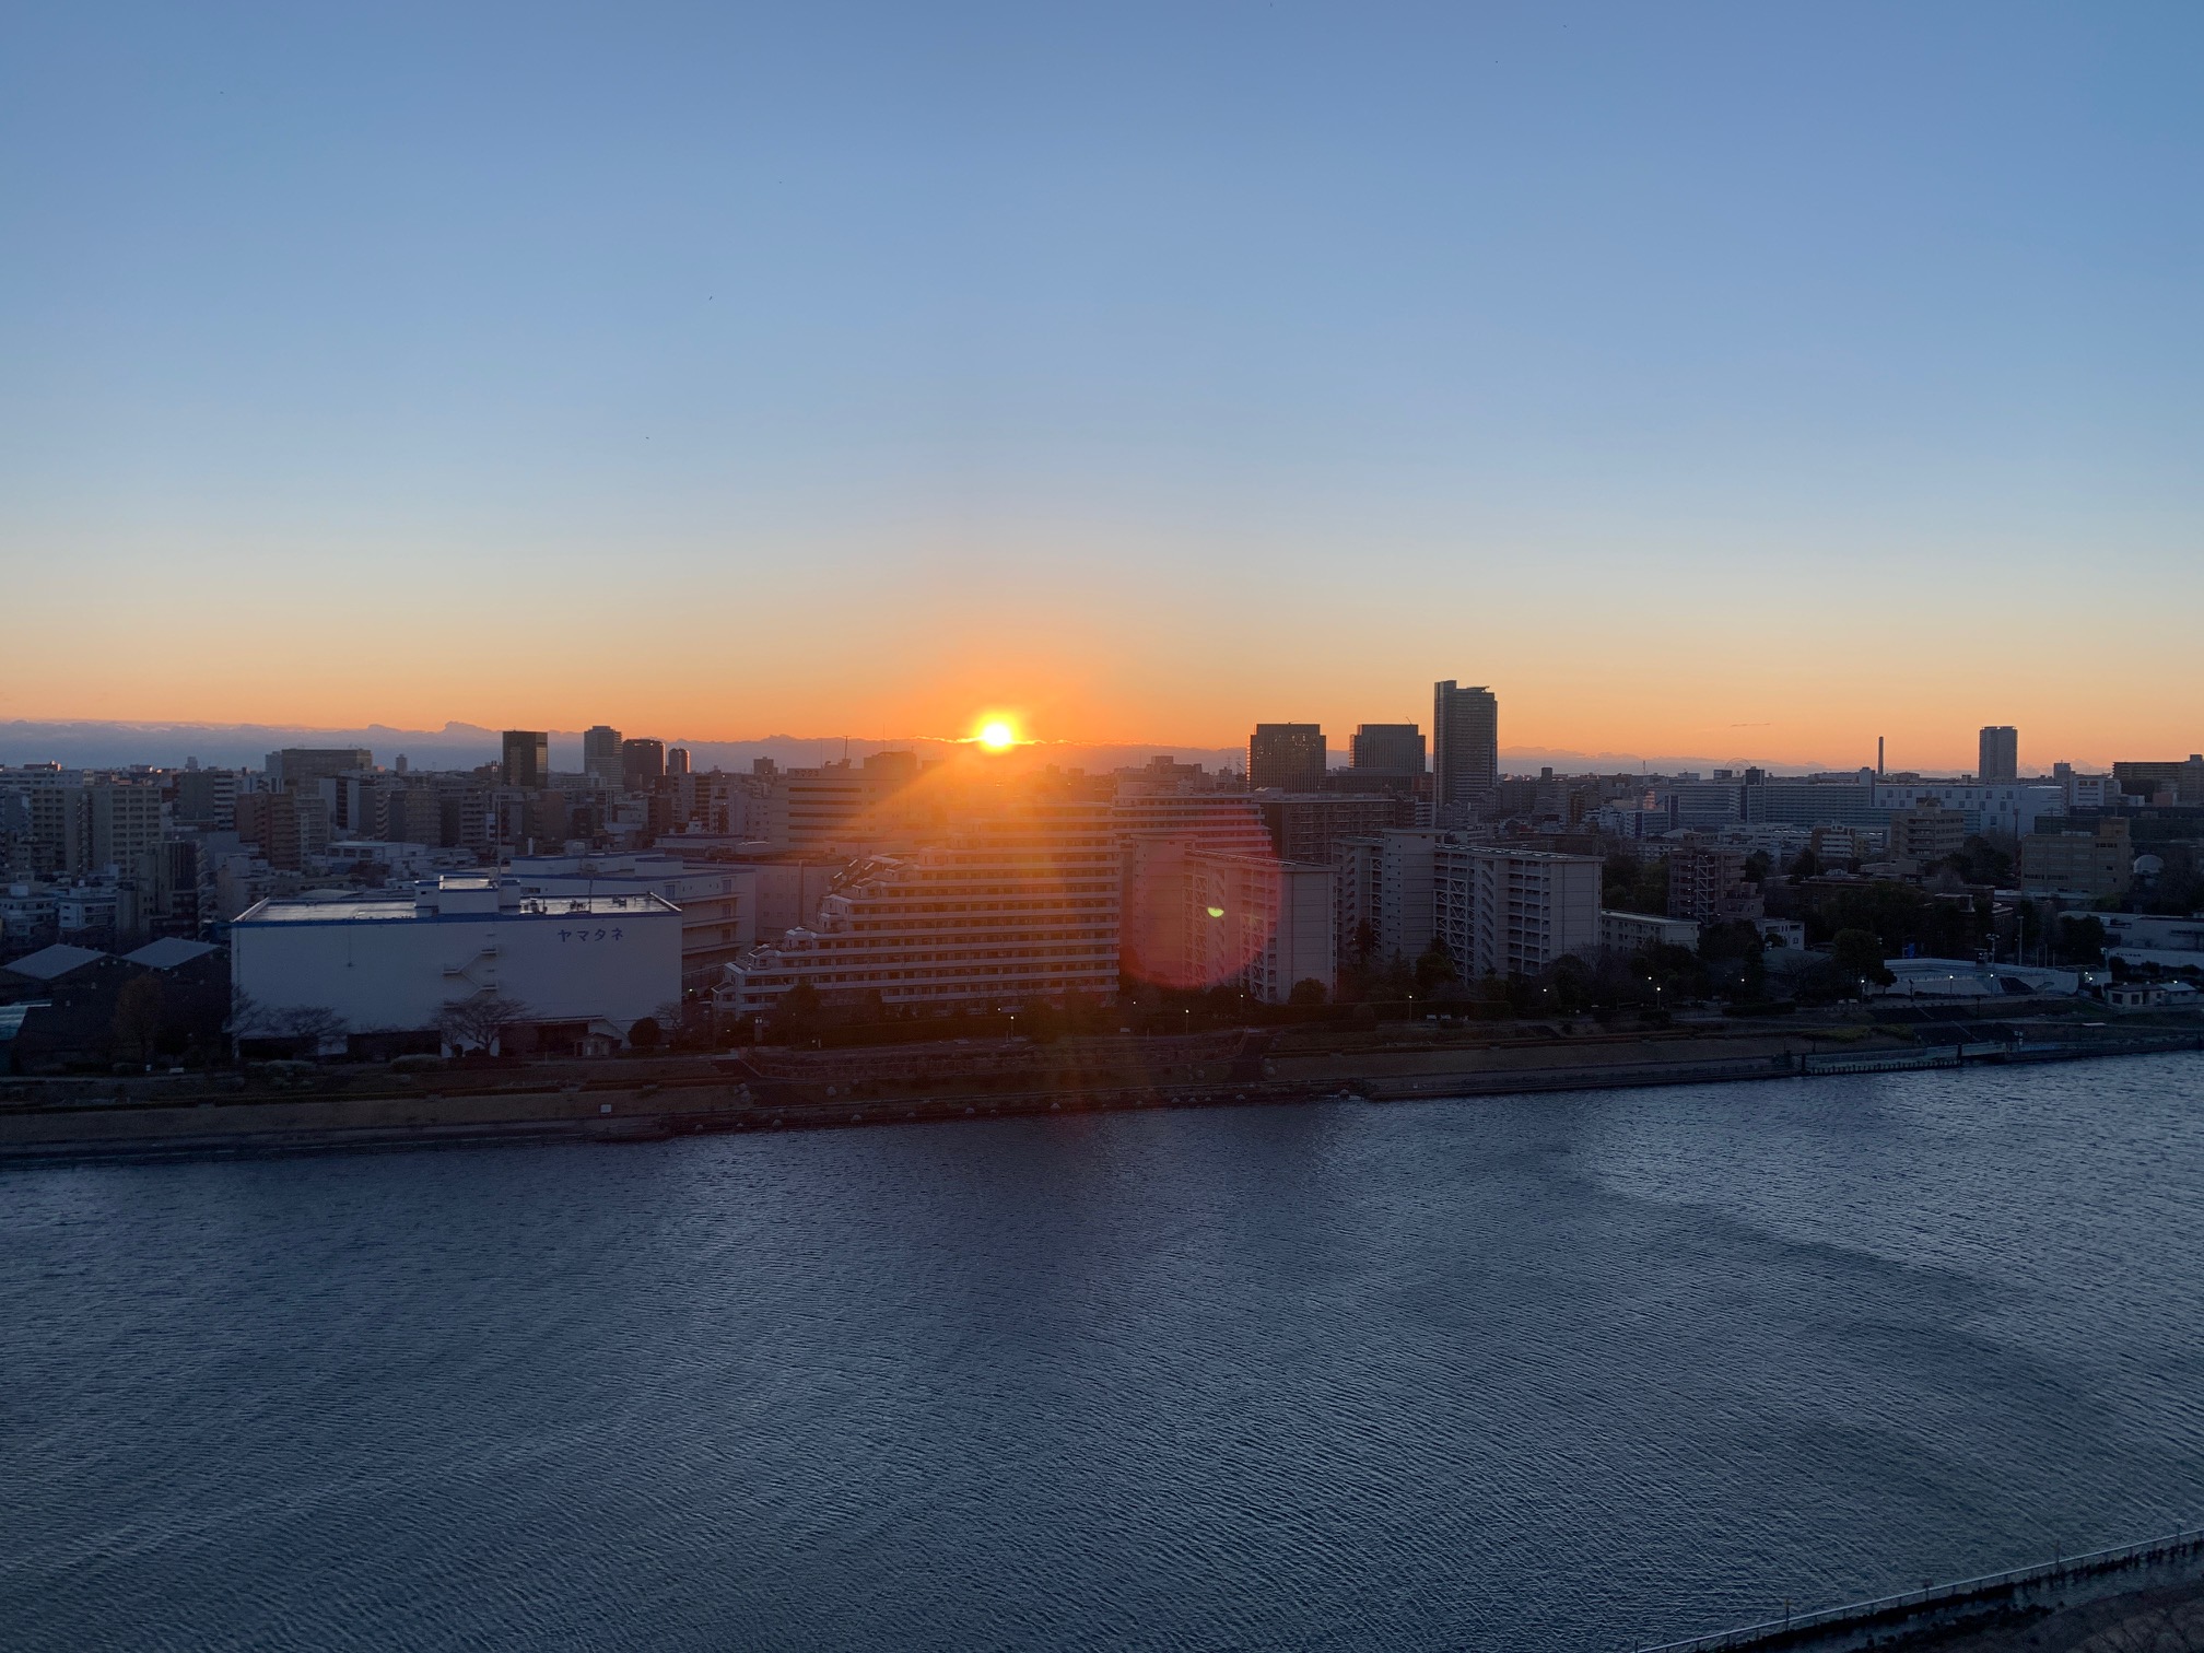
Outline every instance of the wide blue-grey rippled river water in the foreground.
<path fill-rule="evenodd" d="M 0 1175 L 11 1649 L 1629 1649 L 2204 1512 L 2204 1058 Z"/>

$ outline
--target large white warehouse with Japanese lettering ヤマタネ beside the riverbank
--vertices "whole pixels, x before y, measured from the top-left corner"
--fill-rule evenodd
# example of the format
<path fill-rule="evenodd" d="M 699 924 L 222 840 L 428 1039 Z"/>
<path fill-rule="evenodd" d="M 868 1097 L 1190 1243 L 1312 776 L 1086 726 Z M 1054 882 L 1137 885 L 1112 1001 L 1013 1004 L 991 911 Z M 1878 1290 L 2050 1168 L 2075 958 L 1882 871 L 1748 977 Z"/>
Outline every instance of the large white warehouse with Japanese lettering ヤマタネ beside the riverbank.
<path fill-rule="evenodd" d="M 447 1005 L 498 994 L 555 1042 L 626 1040 L 681 996 L 681 910 L 445 875 L 399 899 L 260 901 L 229 928 L 229 972 L 264 1012 L 328 1007 L 348 1034 L 434 1027 Z"/>

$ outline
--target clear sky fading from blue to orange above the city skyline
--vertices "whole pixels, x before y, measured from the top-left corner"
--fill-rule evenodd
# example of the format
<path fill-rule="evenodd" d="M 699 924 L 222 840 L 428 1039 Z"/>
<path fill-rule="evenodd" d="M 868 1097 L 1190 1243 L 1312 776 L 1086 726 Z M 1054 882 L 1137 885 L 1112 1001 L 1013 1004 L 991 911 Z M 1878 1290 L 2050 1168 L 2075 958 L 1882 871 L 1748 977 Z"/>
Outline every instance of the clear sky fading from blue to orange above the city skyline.
<path fill-rule="evenodd" d="M 0 719 L 2204 747 L 2204 7 L 15 7 Z"/>

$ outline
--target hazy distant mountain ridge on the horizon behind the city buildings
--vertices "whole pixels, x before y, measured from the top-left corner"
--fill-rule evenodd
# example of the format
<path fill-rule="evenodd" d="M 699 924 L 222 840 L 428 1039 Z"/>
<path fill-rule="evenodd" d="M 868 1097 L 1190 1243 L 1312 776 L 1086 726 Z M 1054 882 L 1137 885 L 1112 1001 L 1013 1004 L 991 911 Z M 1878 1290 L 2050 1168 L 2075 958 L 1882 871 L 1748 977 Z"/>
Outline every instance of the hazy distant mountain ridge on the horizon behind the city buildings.
<path fill-rule="evenodd" d="M 644 730 L 633 730 L 644 734 Z M 771 758 L 780 767 L 818 765 L 842 758 L 862 760 L 884 749 L 946 749 L 943 741 L 855 741 L 844 736 L 769 734 L 756 741 L 694 741 L 663 736 L 666 745 L 690 749 L 696 769 L 749 769 L 754 758 Z M 476 723 L 445 723 L 441 730 L 395 730 L 370 723 L 361 730 L 313 730 L 295 723 L 110 723 L 110 721 L 0 721 L 0 765 L 60 763 L 71 769 L 110 769 L 132 763 L 183 767 L 198 758 L 207 767 L 258 769 L 278 747 L 368 747 L 375 763 L 392 767 L 399 756 L 414 769 L 472 769 L 498 760 L 498 730 Z M 1051 760 L 1084 769 L 1117 769 L 1153 756 L 1199 763 L 1210 769 L 1239 765 L 1243 747 L 1186 747 L 1170 743 L 1065 743 L 1049 749 Z M 1344 767 L 1347 754 L 1333 752 L 1333 765 Z M 1627 774 L 1631 769 L 1677 771 L 1743 769 L 1759 765 L 1770 774 L 1809 774 L 1823 765 L 1768 763 L 1761 758 L 1693 758 L 1644 756 L 1635 752 L 1567 752 L 1547 747 L 1501 747 L 1501 767 L 1510 774 L 1552 765 L 1560 774 Z M 582 732 L 551 730 L 551 767 L 582 767 Z"/>

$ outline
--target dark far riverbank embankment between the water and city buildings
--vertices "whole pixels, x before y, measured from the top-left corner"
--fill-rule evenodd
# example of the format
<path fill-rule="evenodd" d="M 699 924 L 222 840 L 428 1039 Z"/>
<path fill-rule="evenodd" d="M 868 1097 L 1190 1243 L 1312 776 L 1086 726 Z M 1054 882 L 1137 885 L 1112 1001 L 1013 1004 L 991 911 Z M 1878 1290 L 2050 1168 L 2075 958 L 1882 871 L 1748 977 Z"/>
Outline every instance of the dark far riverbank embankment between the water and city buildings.
<path fill-rule="evenodd" d="M 0 1087 L 0 1157 L 145 1157 L 430 1146 L 648 1142 L 732 1131 L 1254 1106 L 1358 1098 L 1713 1084 L 1962 1062 L 2200 1049 L 2191 1029 L 2100 1029 L 1924 1042 L 1904 1029 L 1697 1027 L 1311 1047 L 1265 1029 L 1056 1045 L 952 1042 L 758 1049 L 652 1062 L 520 1069 L 311 1069 L 236 1076 L 22 1080 Z M 2032 1038 L 2032 1042 L 2030 1042 Z"/>

